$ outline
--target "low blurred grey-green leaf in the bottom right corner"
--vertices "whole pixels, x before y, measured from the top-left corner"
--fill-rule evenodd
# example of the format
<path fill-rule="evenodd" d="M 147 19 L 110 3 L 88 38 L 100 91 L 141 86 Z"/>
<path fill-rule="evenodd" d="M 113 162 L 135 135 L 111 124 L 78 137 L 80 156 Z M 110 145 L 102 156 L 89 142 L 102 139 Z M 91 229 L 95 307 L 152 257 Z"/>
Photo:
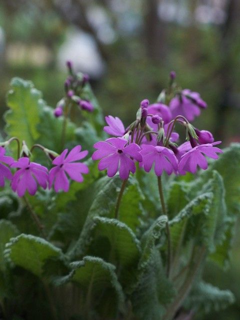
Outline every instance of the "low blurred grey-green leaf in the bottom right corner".
<path fill-rule="evenodd" d="M 231 291 L 205 283 L 198 282 L 185 300 L 185 307 L 191 309 L 194 306 L 196 313 L 208 313 L 212 310 L 219 311 L 234 303 L 235 298 Z"/>

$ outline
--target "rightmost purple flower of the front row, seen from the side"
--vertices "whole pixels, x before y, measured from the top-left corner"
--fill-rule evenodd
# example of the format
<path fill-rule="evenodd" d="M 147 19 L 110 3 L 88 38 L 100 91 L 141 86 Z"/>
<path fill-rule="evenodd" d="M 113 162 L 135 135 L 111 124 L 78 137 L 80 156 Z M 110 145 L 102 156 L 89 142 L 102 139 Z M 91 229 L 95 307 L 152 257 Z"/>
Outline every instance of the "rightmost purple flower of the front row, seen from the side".
<path fill-rule="evenodd" d="M 217 159 L 218 155 L 216 154 L 216 152 L 222 153 L 222 150 L 213 145 L 219 143 L 220 141 L 200 144 L 187 151 L 181 156 L 181 159 L 179 161 L 179 173 L 183 175 L 186 173 L 186 171 L 195 173 L 197 165 L 199 165 L 201 169 L 205 170 L 207 168 L 207 160 L 203 154 L 212 159 Z"/>

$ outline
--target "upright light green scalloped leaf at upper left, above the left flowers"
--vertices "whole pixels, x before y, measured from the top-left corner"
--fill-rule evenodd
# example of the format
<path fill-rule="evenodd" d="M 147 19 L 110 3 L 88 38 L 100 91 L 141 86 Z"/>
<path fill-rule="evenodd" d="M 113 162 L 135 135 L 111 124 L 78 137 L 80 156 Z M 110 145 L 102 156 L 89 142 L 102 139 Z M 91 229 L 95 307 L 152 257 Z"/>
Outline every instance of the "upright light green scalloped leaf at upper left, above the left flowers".
<path fill-rule="evenodd" d="M 44 105 L 41 93 L 30 81 L 13 78 L 11 89 L 7 94 L 9 110 L 5 112 L 5 132 L 8 136 L 16 136 L 25 140 L 30 147 L 39 137 L 36 129 L 40 122 L 40 111 Z"/>

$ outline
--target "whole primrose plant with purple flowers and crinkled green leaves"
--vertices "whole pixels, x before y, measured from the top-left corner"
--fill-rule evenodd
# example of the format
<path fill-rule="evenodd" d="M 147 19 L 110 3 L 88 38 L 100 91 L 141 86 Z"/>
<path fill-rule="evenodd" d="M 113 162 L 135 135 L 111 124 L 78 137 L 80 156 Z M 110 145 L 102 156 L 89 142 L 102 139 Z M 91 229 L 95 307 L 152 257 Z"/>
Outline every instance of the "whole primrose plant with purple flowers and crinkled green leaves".
<path fill-rule="evenodd" d="M 203 273 L 229 262 L 240 145 L 194 126 L 207 104 L 173 71 L 124 125 L 67 69 L 54 109 L 30 81 L 7 93 L 0 319 L 204 319 L 233 303 Z"/>

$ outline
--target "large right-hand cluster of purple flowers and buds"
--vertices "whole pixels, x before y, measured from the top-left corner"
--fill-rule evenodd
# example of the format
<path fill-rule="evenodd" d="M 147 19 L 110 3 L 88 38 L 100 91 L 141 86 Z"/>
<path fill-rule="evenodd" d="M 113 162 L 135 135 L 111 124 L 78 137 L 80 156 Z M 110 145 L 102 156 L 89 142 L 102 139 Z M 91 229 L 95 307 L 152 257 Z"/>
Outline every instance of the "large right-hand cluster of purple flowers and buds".
<path fill-rule="evenodd" d="M 167 174 L 195 173 L 197 166 L 207 168 L 205 156 L 218 158 L 217 153 L 222 150 L 215 145 L 220 141 L 214 142 L 209 131 L 199 130 L 189 122 L 206 108 L 205 101 L 197 92 L 179 90 L 174 78 L 171 73 L 168 96 L 165 95 L 167 90 L 163 90 L 160 101 L 153 104 L 147 99 L 141 101 L 136 120 L 128 127 L 125 128 L 118 117 L 105 117 L 107 125 L 103 129 L 114 137 L 93 145 L 97 150 L 92 159 L 100 160 L 99 170 L 107 169 L 109 177 L 119 170 L 120 178 L 127 179 L 130 172 L 135 172 L 135 163 L 139 162 L 146 172 L 154 165 L 157 176 L 163 171 Z M 179 145 L 176 144 L 179 134 L 174 131 L 176 123 L 184 126 L 187 137 L 187 141 Z"/>

